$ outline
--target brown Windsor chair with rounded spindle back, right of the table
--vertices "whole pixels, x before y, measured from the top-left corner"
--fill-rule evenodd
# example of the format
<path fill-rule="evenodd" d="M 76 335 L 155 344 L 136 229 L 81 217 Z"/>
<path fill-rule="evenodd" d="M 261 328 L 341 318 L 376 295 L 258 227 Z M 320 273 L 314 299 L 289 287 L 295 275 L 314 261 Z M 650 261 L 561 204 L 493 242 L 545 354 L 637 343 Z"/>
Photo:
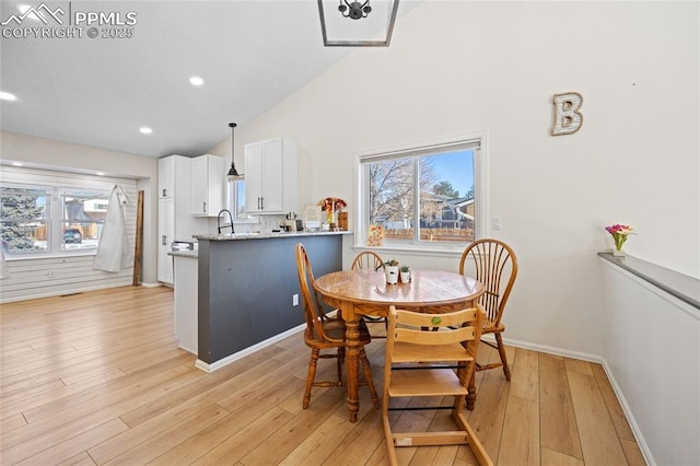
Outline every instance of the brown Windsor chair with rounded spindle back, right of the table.
<path fill-rule="evenodd" d="M 511 370 L 508 366 L 505 348 L 501 334 L 505 326 L 501 322 L 505 303 L 513 289 L 515 277 L 517 276 L 517 257 L 508 244 L 499 240 L 478 240 L 471 243 L 462 254 L 459 260 L 459 273 L 471 273 L 466 270 L 469 264 L 474 267 L 474 273 L 478 281 L 483 284 L 486 292 L 479 299 L 486 311 L 486 322 L 482 335 L 493 334 L 495 343 L 489 340 L 481 340 L 485 345 L 499 350 L 500 363 L 477 364 L 478 371 L 503 366 L 505 380 L 511 380 Z"/>

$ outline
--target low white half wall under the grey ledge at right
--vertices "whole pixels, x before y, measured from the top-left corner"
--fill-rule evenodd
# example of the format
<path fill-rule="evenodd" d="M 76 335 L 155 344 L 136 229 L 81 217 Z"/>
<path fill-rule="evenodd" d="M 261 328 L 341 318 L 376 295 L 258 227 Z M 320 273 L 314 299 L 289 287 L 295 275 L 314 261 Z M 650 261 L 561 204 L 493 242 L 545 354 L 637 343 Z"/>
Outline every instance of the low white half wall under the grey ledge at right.
<path fill-rule="evenodd" d="M 700 310 L 598 259 L 606 372 L 650 464 L 700 464 Z"/>

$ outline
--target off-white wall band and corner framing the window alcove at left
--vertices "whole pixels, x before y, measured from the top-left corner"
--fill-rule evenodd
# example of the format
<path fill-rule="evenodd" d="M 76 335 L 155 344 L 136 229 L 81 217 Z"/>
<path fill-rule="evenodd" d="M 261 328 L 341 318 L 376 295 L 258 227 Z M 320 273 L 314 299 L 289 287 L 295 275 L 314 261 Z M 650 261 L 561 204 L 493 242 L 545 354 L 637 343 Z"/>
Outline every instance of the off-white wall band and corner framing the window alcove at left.
<path fill-rule="evenodd" d="M 24 162 L 27 167 L 83 171 L 91 174 L 105 172 L 108 176 L 136 179 L 137 190 L 143 190 L 141 281 L 145 284 L 158 283 L 158 159 L 7 131 L 0 132 L 0 149 L 4 161 Z"/>

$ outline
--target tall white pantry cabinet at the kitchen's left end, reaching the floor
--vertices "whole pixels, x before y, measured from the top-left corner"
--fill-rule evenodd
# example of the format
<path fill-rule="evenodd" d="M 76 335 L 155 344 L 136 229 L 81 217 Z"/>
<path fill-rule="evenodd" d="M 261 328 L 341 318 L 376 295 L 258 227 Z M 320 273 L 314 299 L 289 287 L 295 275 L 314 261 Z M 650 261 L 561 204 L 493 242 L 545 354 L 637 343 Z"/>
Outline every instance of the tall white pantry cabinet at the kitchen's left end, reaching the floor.
<path fill-rule="evenodd" d="M 173 258 L 167 253 L 175 240 L 206 232 L 190 211 L 191 159 L 171 155 L 159 160 L 158 280 L 173 283 Z M 198 231 L 196 231 L 198 229 Z"/>

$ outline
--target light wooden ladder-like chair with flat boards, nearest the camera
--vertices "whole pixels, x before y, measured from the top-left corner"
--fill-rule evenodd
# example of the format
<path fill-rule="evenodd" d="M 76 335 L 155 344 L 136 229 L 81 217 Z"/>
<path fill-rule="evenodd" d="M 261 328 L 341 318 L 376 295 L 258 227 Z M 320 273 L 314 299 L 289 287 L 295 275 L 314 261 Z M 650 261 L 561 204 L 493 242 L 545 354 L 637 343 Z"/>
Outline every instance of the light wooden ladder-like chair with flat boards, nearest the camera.
<path fill-rule="evenodd" d="M 480 465 L 492 465 L 464 415 L 483 319 L 483 310 L 478 304 L 475 308 L 446 314 L 416 313 L 390 306 L 382 422 L 392 465 L 398 464 L 396 447 L 455 444 L 467 444 Z M 424 331 L 427 327 L 434 331 Z M 441 405 L 445 396 L 454 397 L 452 406 Z M 407 397 L 429 399 L 416 407 L 407 401 L 400 403 L 400 407 L 389 406 L 392 399 Z M 430 404 L 436 406 L 428 406 Z M 410 428 L 407 429 L 409 432 L 392 430 L 389 411 L 415 409 L 451 409 L 458 429 L 428 432 Z"/>

